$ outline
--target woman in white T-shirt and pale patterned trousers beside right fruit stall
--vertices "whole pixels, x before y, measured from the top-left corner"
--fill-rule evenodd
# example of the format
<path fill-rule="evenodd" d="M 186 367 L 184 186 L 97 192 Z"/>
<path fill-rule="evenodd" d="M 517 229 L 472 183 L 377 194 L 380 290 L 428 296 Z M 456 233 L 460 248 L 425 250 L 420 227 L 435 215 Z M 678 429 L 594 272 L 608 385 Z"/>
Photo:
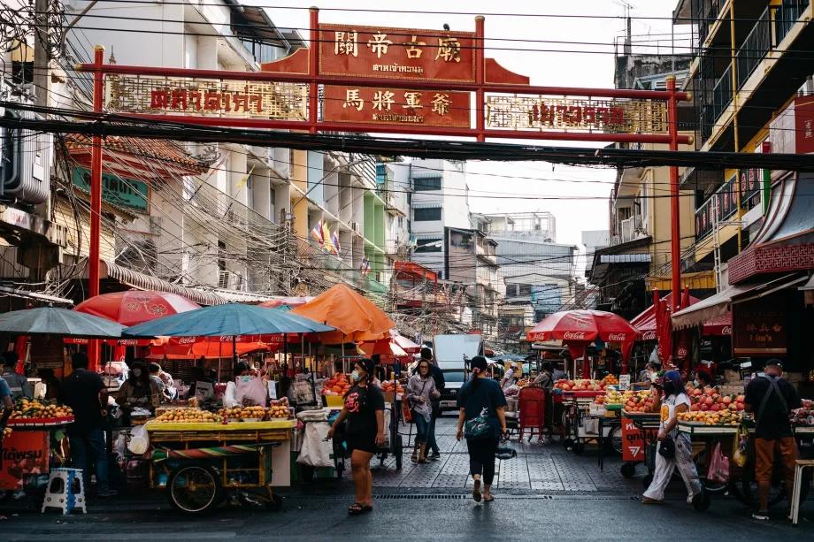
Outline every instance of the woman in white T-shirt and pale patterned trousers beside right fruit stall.
<path fill-rule="evenodd" d="M 647 491 L 641 497 L 644 504 L 664 504 L 664 488 L 670 482 L 672 471 L 678 467 L 684 484 L 687 485 L 687 502 L 701 493 L 698 472 L 693 463 L 693 447 L 687 435 L 679 432 L 678 416 L 687 412 L 690 401 L 684 389 L 684 379 L 678 370 L 668 370 L 662 378 L 664 399 L 656 389 L 654 407 L 661 413 L 658 428 L 656 472 Z M 660 408 L 659 408 L 660 407 Z M 672 451 L 671 451 L 672 450 Z"/>

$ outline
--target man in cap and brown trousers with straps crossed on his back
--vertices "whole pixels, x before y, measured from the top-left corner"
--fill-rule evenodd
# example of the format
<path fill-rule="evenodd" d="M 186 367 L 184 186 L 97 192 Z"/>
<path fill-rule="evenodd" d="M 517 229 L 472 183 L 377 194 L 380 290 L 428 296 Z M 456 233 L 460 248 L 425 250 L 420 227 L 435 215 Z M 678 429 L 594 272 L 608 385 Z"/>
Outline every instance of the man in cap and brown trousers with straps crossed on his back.
<path fill-rule="evenodd" d="M 795 483 L 797 443 L 789 413 L 802 406 L 800 396 L 785 378 L 783 364 L 778 359 L 766 362 L 764 376 L 749 382 L 744 406 L 755 416 L 755 478 L 760 496 L 760 509 L 752 514 L 756 520 L 769 519 L 769 489 L 772 485 L 772 469 L 775 456 L 779 454 L 786 479 L 788 502 L 792 499 Z"/>

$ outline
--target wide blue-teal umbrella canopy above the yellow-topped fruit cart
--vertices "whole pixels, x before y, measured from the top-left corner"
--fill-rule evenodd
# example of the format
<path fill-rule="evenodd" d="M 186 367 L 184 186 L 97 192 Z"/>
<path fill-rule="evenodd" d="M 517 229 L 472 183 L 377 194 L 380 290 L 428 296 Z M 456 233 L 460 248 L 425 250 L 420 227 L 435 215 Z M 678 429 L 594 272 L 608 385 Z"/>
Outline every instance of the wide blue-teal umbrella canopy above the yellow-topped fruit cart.
<path fill-rule="evenodd" d="M 330 332 L 333 329 L 285 310 L 227 303 L 134 325 L 125 330 L 125 335 L 128 337 L 214 337 L 218 335 Z"/>

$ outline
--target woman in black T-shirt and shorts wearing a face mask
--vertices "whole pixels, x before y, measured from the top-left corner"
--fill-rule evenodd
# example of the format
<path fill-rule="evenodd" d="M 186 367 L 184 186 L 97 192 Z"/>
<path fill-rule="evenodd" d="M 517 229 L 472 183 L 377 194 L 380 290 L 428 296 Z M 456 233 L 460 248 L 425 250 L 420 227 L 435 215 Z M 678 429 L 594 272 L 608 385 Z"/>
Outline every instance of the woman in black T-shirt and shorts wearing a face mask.
<path fill-rule="evenodd" d="M 353 366 L 354 385 L 345 394 L 345 405 L 328 431 L 334 438 L 336 427 L 345 422 L 345 442 L 350 452 L 350 471 L 356 485 L 356 501 L 348 508 L 350 515 L 373 509 L 373 477 L 370 460 L 384 445 L 384 393 L 372 384 L 374 364 L 363 358 Z"/>

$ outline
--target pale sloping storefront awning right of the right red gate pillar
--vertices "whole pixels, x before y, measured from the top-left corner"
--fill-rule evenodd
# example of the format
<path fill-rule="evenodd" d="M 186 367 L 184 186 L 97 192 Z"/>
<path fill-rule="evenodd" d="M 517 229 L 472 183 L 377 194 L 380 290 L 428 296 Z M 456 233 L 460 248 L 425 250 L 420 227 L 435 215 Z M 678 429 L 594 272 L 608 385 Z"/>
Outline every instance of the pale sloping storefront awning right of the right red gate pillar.
<path fill-rule="evenodd" d="M 718 294 L 676 312 L 672 315 L 672 327 L 673 329 L 695 327 L 705 322 L 723 318 L 729 311 L 730 304 L 763 297 L 783 288 L 794 286 L 805 279 L 805 276 L 801 277 L 799 274 L 794 273 L 769 282 L 751 282 L 729 286 L 726 290 L 718 292 Z"/>

